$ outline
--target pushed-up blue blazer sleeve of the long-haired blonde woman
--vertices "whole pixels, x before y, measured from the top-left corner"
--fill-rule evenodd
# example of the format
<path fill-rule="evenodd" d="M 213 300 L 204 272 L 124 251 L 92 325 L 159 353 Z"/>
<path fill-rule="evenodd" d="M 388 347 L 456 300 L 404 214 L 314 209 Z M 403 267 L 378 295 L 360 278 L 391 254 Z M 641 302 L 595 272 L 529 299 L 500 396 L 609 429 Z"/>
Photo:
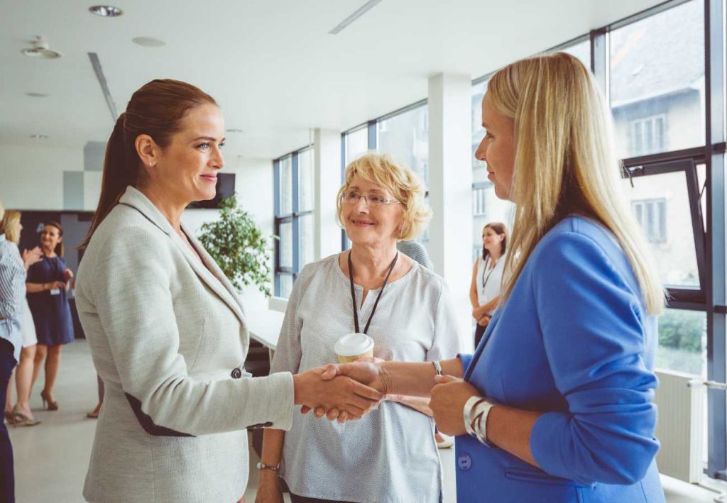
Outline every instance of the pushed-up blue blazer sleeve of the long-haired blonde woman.
<path fill-rule="evenodd" d="M 635 483 L 659 449 L 657 381 L 643 361 L 640 294 L 592 239 L 566 233 L 543 245 L 534 295 L 547 361 L 568 411 L 537 419 L 532 454 L 551 475 L 585 485 Z"/>

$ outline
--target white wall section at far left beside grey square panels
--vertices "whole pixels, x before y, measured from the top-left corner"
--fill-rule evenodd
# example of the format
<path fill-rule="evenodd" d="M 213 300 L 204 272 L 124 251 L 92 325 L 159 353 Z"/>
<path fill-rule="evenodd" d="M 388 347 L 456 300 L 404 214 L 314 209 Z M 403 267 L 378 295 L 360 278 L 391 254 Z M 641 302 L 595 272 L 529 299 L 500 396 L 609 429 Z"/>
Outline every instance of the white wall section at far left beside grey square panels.
<path fill-rule="evenodd" d="M 0 145 L 0 201 L 12 209 L 63 209 L 63 172 L 83 170 L 82 148 Z"/>

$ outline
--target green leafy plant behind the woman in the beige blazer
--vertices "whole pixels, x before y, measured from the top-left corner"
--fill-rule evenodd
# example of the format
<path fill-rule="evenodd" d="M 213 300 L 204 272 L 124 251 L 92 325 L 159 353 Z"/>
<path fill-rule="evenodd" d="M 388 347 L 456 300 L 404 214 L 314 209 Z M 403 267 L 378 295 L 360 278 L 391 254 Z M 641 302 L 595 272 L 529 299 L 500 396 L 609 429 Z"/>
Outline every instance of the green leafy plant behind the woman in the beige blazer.
<path fill-rule="evenodd" d="M 237 206 L 237 194 L 220 204 L 220 219 L 202 225 L 198 236 L 230 282 L 241 290 L 257 285 L 270 297 L 270 257 L 273 249 L 252 216 Z"/>

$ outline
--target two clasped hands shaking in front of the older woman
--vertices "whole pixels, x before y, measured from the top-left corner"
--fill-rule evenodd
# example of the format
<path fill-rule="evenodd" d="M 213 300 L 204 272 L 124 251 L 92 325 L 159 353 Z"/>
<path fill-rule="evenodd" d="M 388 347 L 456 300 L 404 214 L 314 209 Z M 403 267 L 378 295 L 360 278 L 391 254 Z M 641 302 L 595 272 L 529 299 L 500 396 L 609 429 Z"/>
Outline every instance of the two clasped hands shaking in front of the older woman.
<path fill-rule="evenodd" d="M 361 419 L 382 401 L 391 389 L 390 379 L 378 358 L 353 363 L 329 364 L 293 376 L 295 403 L 307 414 L 315 409 L 340 423 Z"/>

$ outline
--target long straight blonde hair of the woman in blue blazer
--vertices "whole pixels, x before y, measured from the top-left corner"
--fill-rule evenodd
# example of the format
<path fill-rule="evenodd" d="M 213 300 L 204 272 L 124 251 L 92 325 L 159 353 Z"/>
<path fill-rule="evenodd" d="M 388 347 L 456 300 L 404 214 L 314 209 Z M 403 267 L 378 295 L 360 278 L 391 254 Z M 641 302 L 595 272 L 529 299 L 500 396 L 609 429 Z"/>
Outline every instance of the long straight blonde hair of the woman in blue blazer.
<path fill-rule="evenodd" d="M 648 314 L 661 313 L 664 289 L 622 193 L 611 112 L 583 63 L 563 52 L 517 61 L 492 76 L 485 99 L 515 122 L 515 222 L 503 301 L 545 233 L 578 213 L 614 233 Z"/>

